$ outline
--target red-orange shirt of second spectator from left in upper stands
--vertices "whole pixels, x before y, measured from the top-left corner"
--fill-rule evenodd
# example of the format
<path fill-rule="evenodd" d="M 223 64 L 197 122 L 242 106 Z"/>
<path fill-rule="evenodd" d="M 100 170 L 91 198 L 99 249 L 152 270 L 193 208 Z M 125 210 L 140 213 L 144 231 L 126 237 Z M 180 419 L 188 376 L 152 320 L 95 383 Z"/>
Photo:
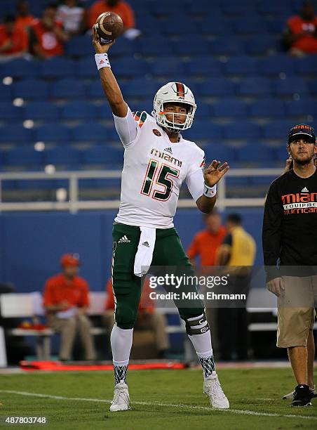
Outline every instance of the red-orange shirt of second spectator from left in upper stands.
<path fill-rule="evenodd" d="M 62 22 L 60 21 L 55 21 L 55 25 L 62 28 Z M 58 39 L 53 31 L 47 30 L 41 20 L 34 20 L 31 27 L 44 56 L 61 56 L 64 53 L 62 41 Z"/>

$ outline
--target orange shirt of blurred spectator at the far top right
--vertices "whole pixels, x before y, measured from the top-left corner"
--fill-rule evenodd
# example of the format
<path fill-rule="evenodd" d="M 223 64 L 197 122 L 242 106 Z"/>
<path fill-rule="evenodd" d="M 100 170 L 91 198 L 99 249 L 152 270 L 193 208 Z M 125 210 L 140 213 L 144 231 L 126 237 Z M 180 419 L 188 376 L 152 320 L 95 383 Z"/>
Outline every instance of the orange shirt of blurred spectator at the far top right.
<path fill-rule="evenodd" d="M 293 16 L 288 20 L 288 27 L 292 34 L 299 34 L 301 32 L 309 31 L 311 34 L 300 37 L 292 44 L 292 48 L 298 48 L 307 53 L 317 53 L 317 39 L 314 33 L 317 28 L 317 17 L 311 21 L 304 21 L 300 16 Z"/>

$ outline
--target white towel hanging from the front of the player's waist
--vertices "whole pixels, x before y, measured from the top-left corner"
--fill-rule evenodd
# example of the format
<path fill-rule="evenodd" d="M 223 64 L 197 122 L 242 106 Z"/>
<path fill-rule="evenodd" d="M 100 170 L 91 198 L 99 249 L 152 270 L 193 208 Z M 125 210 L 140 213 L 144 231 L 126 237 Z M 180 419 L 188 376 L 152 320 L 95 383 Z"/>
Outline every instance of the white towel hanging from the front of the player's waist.
<path fill-rule="evenodd" d="M 140 227 L 141 235 L 134 261 L 134 274 L 140 278 L 151 266 L 156 239 L 156 230 L 151 227 Z"/>

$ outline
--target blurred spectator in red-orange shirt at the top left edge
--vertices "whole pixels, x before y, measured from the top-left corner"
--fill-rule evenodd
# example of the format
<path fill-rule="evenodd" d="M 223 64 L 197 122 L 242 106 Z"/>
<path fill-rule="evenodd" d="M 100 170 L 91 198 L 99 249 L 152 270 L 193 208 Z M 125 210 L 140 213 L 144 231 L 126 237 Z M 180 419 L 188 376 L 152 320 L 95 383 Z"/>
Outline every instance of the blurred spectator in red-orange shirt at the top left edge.
<path fill-rule="evenodd" d="M 0 57 L 10 60 L 27 53 L 29 39 L 24 28 L 18 27 L 13 15 L 6 15 L 0 25 Z"/>

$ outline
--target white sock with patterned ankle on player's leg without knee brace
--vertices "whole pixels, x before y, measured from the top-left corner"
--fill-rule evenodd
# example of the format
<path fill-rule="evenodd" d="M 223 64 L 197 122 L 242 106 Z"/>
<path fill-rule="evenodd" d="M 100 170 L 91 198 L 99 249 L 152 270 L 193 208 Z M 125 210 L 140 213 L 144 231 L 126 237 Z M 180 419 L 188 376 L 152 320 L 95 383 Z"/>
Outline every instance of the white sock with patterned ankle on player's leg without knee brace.
<path fill-rule="evenodd" d="M 110 342 L 112 345 L 115 384 L 119 384 L 121 381 L 126 383 L 132 339 L 133 329 L 123 330 L 116 324 L 112 327 Z"/>

